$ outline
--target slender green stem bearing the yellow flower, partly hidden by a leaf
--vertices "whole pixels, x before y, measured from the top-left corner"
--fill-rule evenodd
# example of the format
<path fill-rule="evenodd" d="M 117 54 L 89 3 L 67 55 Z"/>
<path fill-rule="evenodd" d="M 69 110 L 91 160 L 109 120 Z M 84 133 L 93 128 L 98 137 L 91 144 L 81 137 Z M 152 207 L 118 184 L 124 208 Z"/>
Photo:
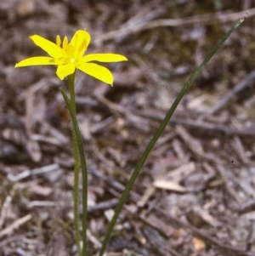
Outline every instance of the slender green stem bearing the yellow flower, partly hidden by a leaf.
<path fill-rule="evenodd" d="M 76 96 L 74 89 L 75 73 L 68 76 L 69 91 L 71 97 L 71 107 L 76 114 Z M 72 126 L 72 144 L 73 144 L 73 159 L 74 159 L 74 189 L 73 189 L 73 212 L 74 212 L 74 225 L 75 236 L 77 241 L 78 255 L 82 256 L 82 249 L 80 243 L 80 230 L 79 230 L 79 153 L 77 146 L 76 134 Z"/>

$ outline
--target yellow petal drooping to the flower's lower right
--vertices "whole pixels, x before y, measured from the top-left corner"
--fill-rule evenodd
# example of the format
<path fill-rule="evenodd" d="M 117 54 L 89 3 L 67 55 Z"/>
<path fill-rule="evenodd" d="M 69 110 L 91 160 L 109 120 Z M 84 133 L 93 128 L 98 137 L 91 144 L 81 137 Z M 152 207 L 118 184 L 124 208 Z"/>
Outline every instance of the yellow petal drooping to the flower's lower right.
<path fill-rule="evenodd" d="M 91 77 L 95 77 L 102 82 L 111 84 L 113 83 L 113 76 L 111 71 L 109 71 L 105 66 L 97 65 L 94 63 L 84 63 L 82 65 L 78 65 L 77 69 L 87 73 Z"/>

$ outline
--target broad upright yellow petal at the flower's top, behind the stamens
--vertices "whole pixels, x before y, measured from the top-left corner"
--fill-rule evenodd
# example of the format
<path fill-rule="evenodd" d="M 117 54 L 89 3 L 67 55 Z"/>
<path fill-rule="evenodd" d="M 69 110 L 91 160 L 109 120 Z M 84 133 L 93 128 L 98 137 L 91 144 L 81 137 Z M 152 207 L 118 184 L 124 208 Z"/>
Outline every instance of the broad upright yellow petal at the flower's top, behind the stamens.
<path fill-rule="evenodd" d="M 73 57 L 79 59 L 83 56 L 90 43 L 90 35 L 87 31 L 77 31 L 71 38 Z"/>

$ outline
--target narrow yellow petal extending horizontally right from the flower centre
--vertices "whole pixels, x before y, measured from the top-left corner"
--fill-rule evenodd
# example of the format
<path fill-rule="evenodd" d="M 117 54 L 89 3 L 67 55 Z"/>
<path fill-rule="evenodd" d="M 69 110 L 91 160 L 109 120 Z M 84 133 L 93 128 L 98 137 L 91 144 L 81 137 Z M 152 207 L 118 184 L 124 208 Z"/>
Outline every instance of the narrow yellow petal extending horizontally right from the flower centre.
<path fill-rule="evenodd" d="M 94 60 L 99 62 L 119 62 L 127 60 L 127 58 L 121 54 L 88 54 L 83 56 L 80 61 L 85 63 Z"/>

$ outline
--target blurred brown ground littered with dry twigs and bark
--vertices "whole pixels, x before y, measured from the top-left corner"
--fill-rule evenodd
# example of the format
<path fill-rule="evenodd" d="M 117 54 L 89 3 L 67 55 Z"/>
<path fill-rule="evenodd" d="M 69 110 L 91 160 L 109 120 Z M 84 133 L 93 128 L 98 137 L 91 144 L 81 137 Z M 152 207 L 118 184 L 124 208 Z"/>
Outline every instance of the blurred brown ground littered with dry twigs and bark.
<path fill-rule="evenodd" d="M 29 36 L 54 41 L 86 28 L 89 53 L 128 58 L 108 65 L 113 88 L 77 72 L 89 255 L 96 255 L 123 185 L 174 98 L 244 16 L 150 154 L 107 252 L 255 255 L 254 7 L 249 0 L 0 1 L 0 255 L 77 253 L 70 120 L 59 94 L 67 84 L 52 66 L 14 70 L 44 54 Z"/>

